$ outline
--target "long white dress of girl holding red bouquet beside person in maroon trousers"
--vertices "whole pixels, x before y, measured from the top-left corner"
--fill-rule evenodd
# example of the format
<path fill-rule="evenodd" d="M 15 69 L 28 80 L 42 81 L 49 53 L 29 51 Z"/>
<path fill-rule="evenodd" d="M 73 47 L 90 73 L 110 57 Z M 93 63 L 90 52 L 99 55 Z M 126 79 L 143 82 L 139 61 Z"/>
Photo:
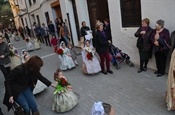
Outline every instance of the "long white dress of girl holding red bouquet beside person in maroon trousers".
<path fill-rule="evenodd" d="M 93 46 L 89 46 L 89 47 L 84 47 L 84 49 L 82 50 L 82 59 L 83 59 L 83 72 L 86 74 L 95 74 L 101 71 L 101 66 L 99 63 L 98 58 L 95 56 L 95 54 L 93 54 L 93 58 L 92 60 L 89 60 L 87 58 L 87 51 L 86 49 L 89 50 L 93 50 Z"/>

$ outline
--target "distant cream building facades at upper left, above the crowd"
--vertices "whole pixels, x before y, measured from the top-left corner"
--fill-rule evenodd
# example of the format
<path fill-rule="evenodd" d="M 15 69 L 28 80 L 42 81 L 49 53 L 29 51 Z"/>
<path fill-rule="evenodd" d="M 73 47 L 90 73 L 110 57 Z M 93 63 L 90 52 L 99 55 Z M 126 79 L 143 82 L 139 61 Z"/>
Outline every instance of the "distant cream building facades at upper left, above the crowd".
<path fill-rule="evenodd" d="M 55 19 L 62 18 L 60 11 L 60 3 L 57 0 L 10 0 L 10 1 L 13 2 L 13 4 L 15 4 L 15 6 L 17 6 L 19 9 L 19 11 L 15 11 L 14 9 L 13 12 L 17 28 L 19 26 L 22 27 L 28 26 L 29 29 L 32 30 L 34 22 L 36 22 L 39 25 L 41 25 L 42 23 L 45 23 L 45 25 L 47 25 L 48 21 L 52 21 L 53 24 L 55 25 Z"/>

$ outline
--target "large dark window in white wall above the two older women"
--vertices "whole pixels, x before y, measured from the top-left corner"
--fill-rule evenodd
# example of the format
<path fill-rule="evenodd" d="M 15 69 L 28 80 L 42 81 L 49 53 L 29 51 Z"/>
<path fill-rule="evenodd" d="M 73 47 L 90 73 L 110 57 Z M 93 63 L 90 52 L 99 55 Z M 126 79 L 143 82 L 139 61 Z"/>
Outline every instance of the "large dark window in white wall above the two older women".
<path fill-rule="evenodd" d="M 120 0 L 122 27 L 138 27 L 141 25 L 140 0 Z"/>

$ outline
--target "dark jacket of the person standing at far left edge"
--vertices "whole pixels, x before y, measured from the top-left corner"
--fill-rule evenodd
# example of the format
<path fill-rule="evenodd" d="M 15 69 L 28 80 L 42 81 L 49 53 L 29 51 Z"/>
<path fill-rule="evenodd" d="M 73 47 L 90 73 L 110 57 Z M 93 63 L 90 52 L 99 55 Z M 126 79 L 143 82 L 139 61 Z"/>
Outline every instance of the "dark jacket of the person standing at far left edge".
<path fill-rule="evenodd" d="M 10 50 L 5 42 L 0 43 L 0 56 L 4 55 L 5 58 L 0 58 L 0 65 L 5 65 L 10 63 Z"/>

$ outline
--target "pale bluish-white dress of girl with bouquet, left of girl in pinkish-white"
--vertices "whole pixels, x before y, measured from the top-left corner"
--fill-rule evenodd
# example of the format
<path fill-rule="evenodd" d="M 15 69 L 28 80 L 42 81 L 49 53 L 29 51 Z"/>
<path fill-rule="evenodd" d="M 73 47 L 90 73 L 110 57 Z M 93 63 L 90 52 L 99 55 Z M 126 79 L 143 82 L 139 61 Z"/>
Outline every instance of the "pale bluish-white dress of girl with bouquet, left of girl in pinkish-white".
<path fill-rule="evenodd" d="M 58 55 L 59 59 L 60 59 L 60 69 L 61 70 L 67 70 L 67 69 L 71 69 L 73 67 L 75 67 L 75 63 L 72 59 L 70 54 L 70 51 L 68 48 L 62 48 L 63 50 L 63 55 Z"/>

